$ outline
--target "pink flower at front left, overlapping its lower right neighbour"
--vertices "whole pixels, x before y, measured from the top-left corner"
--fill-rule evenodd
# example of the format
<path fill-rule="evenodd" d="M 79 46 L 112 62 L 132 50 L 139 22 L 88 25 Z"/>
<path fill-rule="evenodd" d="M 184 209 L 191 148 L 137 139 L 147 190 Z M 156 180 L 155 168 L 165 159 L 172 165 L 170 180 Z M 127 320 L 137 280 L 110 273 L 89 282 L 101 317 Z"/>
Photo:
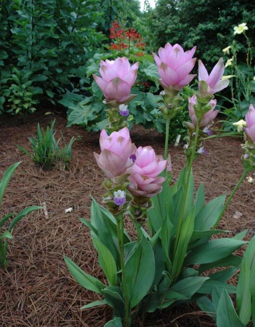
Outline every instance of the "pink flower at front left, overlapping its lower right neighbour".
<path fill-rule="evenodd" d="M 122 128 L 110 136 L 105 130 L 100 134 L 101 153 L 94 152 L 95 159 L 108 178 L 130 174 L 136 159 L 136 147 L 131 142 L 129 130 Z"/>

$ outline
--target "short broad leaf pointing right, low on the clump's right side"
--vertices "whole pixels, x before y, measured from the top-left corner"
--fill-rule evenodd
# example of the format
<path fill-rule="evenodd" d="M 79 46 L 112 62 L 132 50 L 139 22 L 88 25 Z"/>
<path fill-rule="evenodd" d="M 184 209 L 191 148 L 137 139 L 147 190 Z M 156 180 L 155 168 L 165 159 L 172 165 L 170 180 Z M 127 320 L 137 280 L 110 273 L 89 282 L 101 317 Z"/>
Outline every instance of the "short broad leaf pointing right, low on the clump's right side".
<path fill-rule="evenodd" d="M 190 299 L 207 280 L 208 277 L 187 277 L 171 286 L 168 293 L 174 291 Z"/>

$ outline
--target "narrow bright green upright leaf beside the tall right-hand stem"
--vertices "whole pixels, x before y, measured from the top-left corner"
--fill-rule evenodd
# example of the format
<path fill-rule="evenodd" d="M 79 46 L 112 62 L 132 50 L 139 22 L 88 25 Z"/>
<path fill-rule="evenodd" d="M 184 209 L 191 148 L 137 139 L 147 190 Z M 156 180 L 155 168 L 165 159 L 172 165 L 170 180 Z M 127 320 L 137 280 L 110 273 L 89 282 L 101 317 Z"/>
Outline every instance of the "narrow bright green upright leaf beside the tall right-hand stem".
<path fill-rule="evenodd" d="M 176 248 L 176 253 L 173 260 L 173 267 L 171 271 L 171 276 L 173 280 L 178 277 L 183 267 L 183 262 L 187 254 L 189 241 L 194 230 L 194 219 L 195 207 L 193 206 L 181 227 L 180 237 Z"/>

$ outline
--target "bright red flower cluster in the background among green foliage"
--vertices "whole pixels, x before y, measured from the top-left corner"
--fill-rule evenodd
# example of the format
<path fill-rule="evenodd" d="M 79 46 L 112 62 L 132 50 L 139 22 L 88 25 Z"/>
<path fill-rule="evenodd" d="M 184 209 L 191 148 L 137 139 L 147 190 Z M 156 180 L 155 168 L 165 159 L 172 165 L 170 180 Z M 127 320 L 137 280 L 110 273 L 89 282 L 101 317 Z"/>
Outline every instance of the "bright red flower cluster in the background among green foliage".
<path fill-rule="evenodd" d="M 144 50 L 146 45 L 146 43 L 142 41 L 140 34 L 134 28 L 130 27 L 124 29 L 117 20 L 112 23 L 112 27 L 110 28 L 110 38 L 116 40 L 115 42 L 111 42 L 111 50 L 130 49 L 132 46 L 136 49 Z M 137 52 L 136 55 L 142 56 L 144 53 Z"/>

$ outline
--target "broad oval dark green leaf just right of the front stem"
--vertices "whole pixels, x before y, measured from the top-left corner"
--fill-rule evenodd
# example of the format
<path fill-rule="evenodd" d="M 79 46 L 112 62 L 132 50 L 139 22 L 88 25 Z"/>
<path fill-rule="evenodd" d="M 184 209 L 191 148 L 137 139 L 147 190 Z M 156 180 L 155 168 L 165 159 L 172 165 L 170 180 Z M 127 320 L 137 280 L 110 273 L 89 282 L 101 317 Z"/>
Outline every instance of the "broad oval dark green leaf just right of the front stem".
<path fill-rule="evenodd" d="M 154 254 L 150 243 L 144 237 L 126 262 L 125 270 L 128 284 L 127 296 L 132 309 L 145 297 L 154 280 Z"/>

